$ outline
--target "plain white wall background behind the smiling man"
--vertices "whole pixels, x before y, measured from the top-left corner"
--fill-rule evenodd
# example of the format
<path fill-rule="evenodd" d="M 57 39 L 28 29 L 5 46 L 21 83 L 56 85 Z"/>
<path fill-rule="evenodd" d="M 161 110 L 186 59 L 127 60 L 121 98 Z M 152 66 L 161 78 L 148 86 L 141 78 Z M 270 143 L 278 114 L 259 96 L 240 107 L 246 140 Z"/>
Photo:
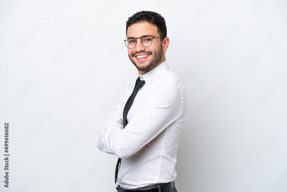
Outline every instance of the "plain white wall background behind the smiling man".
<path fill-rule="evenodd" d="M 98 150 L 97 134 L 121 89 L 138 75 L 122 43 L 126 20 L 141 10 L 166 19 L 172 40 L 166 59 L 187 91 L 178 191 L 286 191 L 286 1 L 13 2 L 0 3 L 0 191 L 115 191 L 117 157 Z M 81 127 L 87 130 L 79 133 Z"/>

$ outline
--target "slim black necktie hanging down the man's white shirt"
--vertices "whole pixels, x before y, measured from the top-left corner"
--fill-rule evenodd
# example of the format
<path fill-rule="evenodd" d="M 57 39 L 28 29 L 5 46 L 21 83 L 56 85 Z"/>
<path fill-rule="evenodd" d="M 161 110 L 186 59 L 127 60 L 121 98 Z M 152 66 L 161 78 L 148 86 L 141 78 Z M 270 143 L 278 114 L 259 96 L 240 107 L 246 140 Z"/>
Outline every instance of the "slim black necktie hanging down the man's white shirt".
<path fill-rule="evenodd" d="M 141 88 L 141 86 L 143 86 L 146 82 L 145 81 L 141 81 L 139 80 L 139 78 L 137 78 L 137 81 L 135 82 L 135 88 L 133 89 L 133 93 L 131 94 L 131 96 L 129 96 L 129 99 L 127 100 L 124 110 L 123 110 L 123 124 L 124 124 L 124 128 L 127 125 L 127 112 L 130 109 L 130 106 L 133 102 L 133 100 L 135 99 L 135 96 L 137 95 L 137 92 L 139 91 L 139 88 Z M 121 159 L 118 159 L 117 162 L 117 166 L 116 166 L 116 171 L 115 171 L 115 184 L 117 183 L 117 176 L 118 176 L 118 170 L 119 170 L 119 164 L 121 162 Z"/>

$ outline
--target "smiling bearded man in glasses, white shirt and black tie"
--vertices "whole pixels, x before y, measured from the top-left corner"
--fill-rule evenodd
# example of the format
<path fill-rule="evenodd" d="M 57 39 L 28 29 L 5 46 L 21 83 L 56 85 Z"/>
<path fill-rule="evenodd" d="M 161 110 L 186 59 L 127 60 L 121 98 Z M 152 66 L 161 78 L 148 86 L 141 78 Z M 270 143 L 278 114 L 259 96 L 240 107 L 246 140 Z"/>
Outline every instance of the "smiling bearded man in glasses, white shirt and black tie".
<path fill-rule="evenodd" d="M 186 119 L 185 89 L 168 68 L 164 18 L 137 12 L 127 20 L 128 55 L 139 76 L 98 134 L 101 151 L 119 157 L 118 191 L 177 191 L 176 151 Z"/>

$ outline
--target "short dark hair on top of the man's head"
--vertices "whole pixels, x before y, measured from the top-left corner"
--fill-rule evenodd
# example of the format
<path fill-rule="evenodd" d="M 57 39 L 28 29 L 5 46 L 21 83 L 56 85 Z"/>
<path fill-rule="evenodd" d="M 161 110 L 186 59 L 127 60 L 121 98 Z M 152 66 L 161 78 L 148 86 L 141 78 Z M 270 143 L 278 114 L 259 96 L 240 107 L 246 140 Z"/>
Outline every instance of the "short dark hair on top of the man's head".
<path fill-rule="evenodd" d="M 141 22 L 149 22 L 150 24 L 155 25 L 158 28 L 157 30 L 158 34 L 161 37 L 166 37 L 167 30 L 165 20 L 160 14 L 153 11 L 140 11 L 133 14 L 133 16 L 129 17 L 126 24 L 126 35 L 127 35 L 127 28 L 129 28 L 129 26 Z"/>

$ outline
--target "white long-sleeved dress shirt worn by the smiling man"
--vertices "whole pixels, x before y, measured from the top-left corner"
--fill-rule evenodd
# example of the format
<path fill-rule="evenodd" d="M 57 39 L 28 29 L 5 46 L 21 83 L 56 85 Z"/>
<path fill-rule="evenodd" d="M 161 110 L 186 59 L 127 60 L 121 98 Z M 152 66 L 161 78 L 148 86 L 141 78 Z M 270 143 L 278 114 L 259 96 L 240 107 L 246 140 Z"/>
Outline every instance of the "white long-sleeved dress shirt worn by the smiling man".
<path fill-rule="evenodd" d="M 166 61 L 139 77 L 146 83 L 127 113 L 125 129 L 119 122 L 138 77 L 131 81 L 98 133 L 98 148 L 121 158 L 117 180 L 125 189 L 169 183 L 176 178 L 176 151 L 186 119 L 185 89 Z"/>

